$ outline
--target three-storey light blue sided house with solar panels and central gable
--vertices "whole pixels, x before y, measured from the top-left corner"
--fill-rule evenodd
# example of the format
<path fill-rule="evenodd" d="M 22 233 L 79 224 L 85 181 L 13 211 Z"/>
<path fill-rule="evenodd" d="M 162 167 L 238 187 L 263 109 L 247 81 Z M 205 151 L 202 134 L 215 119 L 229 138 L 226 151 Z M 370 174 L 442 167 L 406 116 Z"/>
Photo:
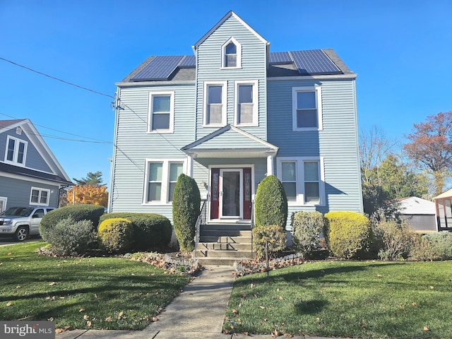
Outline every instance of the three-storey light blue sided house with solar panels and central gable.
<path fill-rule="evenodd" d="M 362 212 L 356 74 L 333 49 L 270 52 L 232 11 L 192 49 L 148 57 L 117 83 L 110 211 L 171 220 L 184 173 L 206 201 L 200 242 L 216 239 L 217 248 L 222 235 L 249 230 L 258 183 L 270 174 L 289 215 Z"/>

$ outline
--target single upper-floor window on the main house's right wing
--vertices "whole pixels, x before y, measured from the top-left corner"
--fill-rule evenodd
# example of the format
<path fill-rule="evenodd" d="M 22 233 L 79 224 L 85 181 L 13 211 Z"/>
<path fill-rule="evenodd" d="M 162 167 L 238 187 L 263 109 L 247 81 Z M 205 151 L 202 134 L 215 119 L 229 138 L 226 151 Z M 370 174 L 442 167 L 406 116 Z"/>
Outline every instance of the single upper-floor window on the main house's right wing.
<path fill-rule="evenodd" d="M 292 88 L 292 130 L 322 129 L 321 86 Z"/>

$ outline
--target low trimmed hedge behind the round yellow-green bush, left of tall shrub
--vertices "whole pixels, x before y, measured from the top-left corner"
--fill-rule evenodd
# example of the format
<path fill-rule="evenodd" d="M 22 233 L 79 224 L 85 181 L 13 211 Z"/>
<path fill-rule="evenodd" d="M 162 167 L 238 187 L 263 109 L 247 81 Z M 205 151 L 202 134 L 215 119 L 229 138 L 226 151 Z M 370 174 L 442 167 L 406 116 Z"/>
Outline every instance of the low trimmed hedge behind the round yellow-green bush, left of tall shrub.
<path fill-rule="evenodd" d="M 172 226 L 168 218 L 155 213 L 108 213 L 102 215 L 100 222 L 112 218 L 124 218 L 133 225 L 134 249 L 152 249 L 167 246 L 171 241 Z"/>

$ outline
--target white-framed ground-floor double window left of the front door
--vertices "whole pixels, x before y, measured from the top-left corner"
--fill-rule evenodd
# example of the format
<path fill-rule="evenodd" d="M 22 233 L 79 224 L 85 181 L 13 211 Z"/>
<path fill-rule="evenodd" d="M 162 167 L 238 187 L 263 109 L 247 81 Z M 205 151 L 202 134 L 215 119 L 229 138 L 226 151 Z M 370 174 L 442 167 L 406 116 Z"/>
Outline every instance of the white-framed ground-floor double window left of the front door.
<path fill-rule="evenodd" d="M 143 203 L 171 203 L 184 160 L 147 160 Z"/>

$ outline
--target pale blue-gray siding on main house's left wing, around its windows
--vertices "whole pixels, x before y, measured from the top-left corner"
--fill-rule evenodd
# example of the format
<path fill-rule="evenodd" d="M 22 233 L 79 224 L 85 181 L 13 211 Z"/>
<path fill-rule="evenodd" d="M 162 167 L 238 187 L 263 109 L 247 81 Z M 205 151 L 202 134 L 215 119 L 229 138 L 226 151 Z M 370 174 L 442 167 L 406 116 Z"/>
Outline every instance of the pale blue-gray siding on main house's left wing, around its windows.
<path fill-rule="evenodd" d="M 174 91 L 174 133 L 147 133 L 148 93 Z M 120 88 L 114 162 L 112 164 L 112 212 L 172 215 L 172 206 L 143 205 L 146 159 L 186 160 L 180 149 L 194 139 L 192 83 Z M 171 219 L 171 218 L 170 218 Z"/>

